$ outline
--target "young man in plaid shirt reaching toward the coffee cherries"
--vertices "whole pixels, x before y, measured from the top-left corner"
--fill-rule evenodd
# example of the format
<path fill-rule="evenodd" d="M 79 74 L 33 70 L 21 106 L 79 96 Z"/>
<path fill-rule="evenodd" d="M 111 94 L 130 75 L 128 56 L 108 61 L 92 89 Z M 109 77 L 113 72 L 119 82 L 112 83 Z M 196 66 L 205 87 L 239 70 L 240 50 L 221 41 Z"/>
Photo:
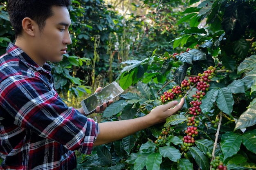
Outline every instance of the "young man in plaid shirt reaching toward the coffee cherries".
<path fill-rule="evenodd" d="M 69 5 L 70 0 L 7 3 L 16 42 L 0 57 L 0 169 L 72 170 L 74 150 L 90 154 L 92 146 L 165 121 L 184 103 L 182 99 L 174 108 L 177 102 L 137 119 L 99 124 L 87 119 L 82 108 L 67 107 L 56 93 L 46 61 L 59 62 L 67 53 Z"/>

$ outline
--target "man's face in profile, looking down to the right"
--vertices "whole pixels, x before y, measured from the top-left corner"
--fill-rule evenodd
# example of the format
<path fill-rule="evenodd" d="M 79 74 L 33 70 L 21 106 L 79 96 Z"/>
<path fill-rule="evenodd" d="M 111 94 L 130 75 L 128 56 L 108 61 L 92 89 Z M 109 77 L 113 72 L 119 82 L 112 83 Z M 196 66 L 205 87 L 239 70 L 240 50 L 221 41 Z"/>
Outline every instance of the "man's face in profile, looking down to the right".
<path fill-rule="evenodd" d="M 35 35 L 36 62 L 39 65 L 46 61 L 59 62 L 67 51 L 67 44 L 71 44 L 68 27 L 71 24 L 70 15 L 66 7 L 52 7 L 53 16 L 47 18 L 45 27 Z"/>

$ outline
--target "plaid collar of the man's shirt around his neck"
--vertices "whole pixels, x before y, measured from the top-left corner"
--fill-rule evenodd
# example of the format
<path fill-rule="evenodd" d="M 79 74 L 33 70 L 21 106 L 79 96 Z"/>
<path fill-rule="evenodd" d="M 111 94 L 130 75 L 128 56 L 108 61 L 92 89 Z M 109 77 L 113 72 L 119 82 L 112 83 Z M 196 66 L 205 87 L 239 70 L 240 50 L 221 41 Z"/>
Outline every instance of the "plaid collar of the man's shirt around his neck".
<path fill-rule="evenodd" d="M 22 62 L 27 64 L 28 66 L 33 67 L 36 71 L 46 71 L 46 72 L 51 72 L 52 68 L 49 64 L 45 63 L 43 67 L 39 66 L 32 60 L 22 49 L 20 49 L 18 46 L 16 46 L 13 43 L 9 43 L 6 49 L 7 53 L 12 55 L 13 57 L 18 57 Z"/>

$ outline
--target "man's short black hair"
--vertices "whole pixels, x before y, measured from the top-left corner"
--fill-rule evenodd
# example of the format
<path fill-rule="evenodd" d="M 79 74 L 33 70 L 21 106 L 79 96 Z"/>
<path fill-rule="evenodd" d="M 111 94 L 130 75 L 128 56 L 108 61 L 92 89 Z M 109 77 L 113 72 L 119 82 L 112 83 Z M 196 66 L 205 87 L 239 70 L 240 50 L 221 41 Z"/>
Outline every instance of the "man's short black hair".
<path fill-rule="evenodd" d="M 22 20 L 29 17 L 42 31 L 45 20 L 53 14 L 52 7 L 69 7 L 70 0 L 8 0 L 7 11 L 16 37 L 22 32 Z"/>

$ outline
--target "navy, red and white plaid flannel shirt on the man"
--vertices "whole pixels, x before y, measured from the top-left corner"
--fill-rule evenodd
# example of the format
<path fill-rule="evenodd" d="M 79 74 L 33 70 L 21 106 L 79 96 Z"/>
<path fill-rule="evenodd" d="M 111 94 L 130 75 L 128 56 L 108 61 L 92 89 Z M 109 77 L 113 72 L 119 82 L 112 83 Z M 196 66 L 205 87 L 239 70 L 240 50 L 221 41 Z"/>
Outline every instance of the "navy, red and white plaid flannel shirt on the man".
<path fill-rule="evenodd" d="M 91 153 L 98 124 L 63 103 L 50 72 L 12 43 L 0 57 L 0 169 L 72 170 L 74 150 Z"/>

